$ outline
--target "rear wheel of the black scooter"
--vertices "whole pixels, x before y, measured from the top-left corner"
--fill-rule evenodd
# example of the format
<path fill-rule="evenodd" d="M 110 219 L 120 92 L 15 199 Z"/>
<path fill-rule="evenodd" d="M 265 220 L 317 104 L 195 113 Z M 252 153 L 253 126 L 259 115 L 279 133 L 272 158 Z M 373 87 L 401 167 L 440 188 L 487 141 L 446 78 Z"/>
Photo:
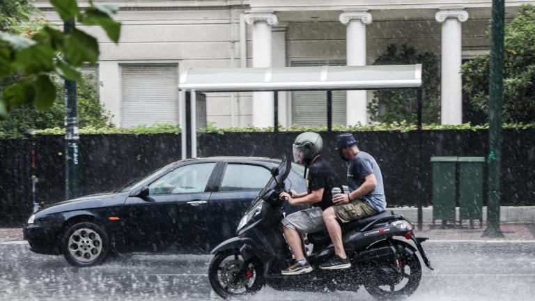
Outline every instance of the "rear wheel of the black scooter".
<path fill-rule="evenodd" d="M 366 291 L 378 300 L 399 300 L 412 295 L 421 280 L 421 264 L 418 255 L 412 247 L 403 241 L 394 240 L 394 247 L 398 250 L 396 268 L 400 277 L 397 283 L 364 284 Z"/>

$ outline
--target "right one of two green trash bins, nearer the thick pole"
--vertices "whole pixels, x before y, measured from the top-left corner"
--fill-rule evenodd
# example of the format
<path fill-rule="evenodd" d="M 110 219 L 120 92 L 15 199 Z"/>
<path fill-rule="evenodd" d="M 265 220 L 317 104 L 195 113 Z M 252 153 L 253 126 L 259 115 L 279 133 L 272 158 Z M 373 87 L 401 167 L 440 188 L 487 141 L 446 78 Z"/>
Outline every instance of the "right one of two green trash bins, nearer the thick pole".
<path fill-rule="evenodd" d="M 459 219 L 483 221 L 483 170 L 485 157 L 458 157 Z"/>

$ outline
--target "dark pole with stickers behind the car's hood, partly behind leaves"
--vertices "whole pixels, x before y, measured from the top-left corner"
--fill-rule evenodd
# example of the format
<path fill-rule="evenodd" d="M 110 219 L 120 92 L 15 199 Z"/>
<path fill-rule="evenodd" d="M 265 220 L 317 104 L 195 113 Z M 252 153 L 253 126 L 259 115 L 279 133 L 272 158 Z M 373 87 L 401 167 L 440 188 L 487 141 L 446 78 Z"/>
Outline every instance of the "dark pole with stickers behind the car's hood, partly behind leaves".
<path fill-rule="evenodd" d="M 65 33 L 75 28 L 74 18 L 63 24 Z M 68 59 L 68 58 L 67 58 Z M 78 101 L 76 82 L 65 79 L 65 198 L 78 196 Z"/>

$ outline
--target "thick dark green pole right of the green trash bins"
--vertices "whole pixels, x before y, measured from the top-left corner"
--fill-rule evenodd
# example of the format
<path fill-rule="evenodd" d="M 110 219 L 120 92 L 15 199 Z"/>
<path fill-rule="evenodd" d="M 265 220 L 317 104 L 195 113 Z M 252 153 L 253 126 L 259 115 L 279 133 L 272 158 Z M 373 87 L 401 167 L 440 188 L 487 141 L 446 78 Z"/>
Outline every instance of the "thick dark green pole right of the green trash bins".
<path fill-rule="evenodd" d="M 503 237 L 499 229 L 499 186 L 502 168 L 502 102 L 504 98 L 504 19 L 505 1 L 493 0 L 490 28 L 488 202 L 487 229 L 483 237 Z"/>

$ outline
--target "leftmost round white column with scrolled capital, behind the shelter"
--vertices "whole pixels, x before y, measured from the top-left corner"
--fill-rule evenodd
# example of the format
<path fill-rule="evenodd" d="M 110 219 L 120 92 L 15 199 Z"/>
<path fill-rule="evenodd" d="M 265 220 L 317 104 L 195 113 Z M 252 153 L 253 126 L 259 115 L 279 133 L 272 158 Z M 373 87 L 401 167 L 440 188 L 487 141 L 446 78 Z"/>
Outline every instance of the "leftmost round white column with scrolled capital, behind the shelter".
<path fill-rule="evenodd" d="M 251 12 L 245 22 L 253 26 L 253 68 L 271 67 L 271 26 L 279 20 L 272 12 Z M 273 93 L 253 93 L 253 125 L 256 128 L 273 126 Z"/>

